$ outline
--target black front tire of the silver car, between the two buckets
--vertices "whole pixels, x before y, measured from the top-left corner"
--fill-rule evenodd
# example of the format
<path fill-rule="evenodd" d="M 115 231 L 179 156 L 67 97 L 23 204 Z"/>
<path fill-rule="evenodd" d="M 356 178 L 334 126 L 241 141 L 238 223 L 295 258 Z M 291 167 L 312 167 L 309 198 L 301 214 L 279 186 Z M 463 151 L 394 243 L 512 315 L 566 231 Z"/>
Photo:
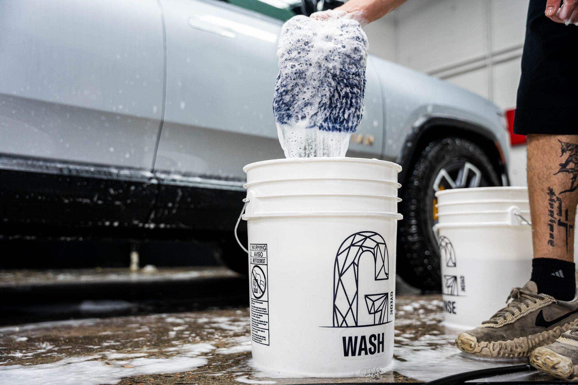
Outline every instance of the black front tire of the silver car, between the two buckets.
<path fill-rule="evenodd" d="M 455 187 L 443 177 L 438 184 L 442 188 L 447 188 L 443 183 L 449 188 L 501 186 L 501 178 L 478 145 L 457 137 L 433 141 L 409 167 L 399 204 L 403 220 L 398 223 L 397 272 L 418 289 L 440 291 L 438 239 L 432 231 L 436 223 L 434 183 L 440 174 L 445 175 L 442 170 L 446 170 L 450 179 L 453 175 L 466 175 L 465 185 L 455 183 L 462 180 L 461 177 L 455 178 Z M 472 180 L 468 179 L 470 173 Z"/>

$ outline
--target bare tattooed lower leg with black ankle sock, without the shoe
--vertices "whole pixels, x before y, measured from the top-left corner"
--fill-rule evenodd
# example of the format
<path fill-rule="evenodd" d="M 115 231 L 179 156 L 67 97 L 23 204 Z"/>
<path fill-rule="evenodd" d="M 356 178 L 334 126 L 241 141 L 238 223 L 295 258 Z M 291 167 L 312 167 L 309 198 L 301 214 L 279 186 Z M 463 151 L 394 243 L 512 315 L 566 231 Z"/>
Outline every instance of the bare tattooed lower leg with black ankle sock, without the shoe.
<path fill-rule="evenodd" d="M 578 135 L 528 135 L 532 281 L 539 293 L 575 296 L 574 228 L 578 204 Z"/>

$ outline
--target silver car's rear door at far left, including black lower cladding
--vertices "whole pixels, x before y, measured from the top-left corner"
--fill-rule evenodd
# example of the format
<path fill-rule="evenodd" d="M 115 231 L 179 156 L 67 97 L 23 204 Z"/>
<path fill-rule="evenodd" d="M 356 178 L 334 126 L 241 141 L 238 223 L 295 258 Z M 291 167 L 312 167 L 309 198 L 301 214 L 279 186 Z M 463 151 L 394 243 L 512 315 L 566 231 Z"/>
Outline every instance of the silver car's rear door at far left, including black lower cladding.
<path fill-rule="evenodd" d="M 0 1 L 0 233 L 142 226 L 164 65 L 156 0 Z"/>

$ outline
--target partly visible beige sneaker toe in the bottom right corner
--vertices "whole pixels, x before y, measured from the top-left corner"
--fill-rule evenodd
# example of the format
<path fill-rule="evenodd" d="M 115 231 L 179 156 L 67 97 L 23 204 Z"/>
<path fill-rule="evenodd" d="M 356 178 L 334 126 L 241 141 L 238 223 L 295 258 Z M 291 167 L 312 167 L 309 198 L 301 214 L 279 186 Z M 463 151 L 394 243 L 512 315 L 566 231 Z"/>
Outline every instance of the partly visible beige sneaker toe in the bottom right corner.
<path fill-rule="evenodd" d="M 530 363 L 540 372 L 563 380 L 578 380 L 578 327 L 570 327 L 550 345 L 530 354 Z"/>

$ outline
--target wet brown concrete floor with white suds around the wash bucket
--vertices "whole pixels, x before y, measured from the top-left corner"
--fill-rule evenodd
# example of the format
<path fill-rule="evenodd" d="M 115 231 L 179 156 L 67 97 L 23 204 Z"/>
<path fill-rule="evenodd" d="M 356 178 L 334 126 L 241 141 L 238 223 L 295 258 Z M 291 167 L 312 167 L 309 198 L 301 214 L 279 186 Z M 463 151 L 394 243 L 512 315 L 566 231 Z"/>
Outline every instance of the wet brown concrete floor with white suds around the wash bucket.
<path fill-rule="evenodd" d="M 101 304 L 102 305 L 102 304 Z M 394 363 L 347 379 L 283 378 L 251 367 L 246 306 L 0 327 L 1 384 L 311 384 L 424 382 L 520 362 L 462 356 L 438 295 L 397 296 Z M 531 373 L 516 380 L 551 380 Z M 502 380 L 504 378 L 501 378 Z"/>

